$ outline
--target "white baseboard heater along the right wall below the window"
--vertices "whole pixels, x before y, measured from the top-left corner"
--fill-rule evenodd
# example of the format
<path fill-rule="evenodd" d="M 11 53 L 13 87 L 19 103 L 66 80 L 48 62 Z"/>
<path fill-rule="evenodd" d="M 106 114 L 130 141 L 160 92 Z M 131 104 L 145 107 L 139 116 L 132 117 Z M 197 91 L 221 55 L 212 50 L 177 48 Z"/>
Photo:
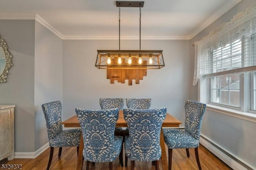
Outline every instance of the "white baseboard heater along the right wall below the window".
<path fill-rule="evenodd" d="M 230 168 L 234 170 L 255 170 L 256 168 L 248 164 L 241 158 L 238 158 L 228 150 L 224 149 L 217 143 L 214 143 L 211 139 L 201 134 L 200 144 L 202 144 L 206 149 L 210 150 L 214 155 L 225 162 Z"/>

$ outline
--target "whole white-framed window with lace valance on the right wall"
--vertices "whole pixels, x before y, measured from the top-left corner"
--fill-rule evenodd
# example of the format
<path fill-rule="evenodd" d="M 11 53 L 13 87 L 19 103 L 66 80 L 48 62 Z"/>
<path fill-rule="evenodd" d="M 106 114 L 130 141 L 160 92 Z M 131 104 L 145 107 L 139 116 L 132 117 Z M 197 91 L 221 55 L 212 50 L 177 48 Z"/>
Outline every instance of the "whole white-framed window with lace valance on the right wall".
<path fill-rule="evenodd" d="M 256 113 L 256 6 L 222 23 L 194 46 L 193 85 L 199 78 L 200 102 L 230 113 Z"/>

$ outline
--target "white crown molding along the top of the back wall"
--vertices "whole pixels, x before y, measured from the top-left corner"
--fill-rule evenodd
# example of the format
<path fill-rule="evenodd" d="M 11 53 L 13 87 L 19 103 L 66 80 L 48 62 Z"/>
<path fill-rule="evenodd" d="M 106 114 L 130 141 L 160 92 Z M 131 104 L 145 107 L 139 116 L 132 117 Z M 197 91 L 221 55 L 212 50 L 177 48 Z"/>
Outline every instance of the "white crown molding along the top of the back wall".
<path fill-rule="evenodd" d="M 118 40 L 118 36 L 63 36 L 70 40 Z M 122 40 L 138 40 L 139 36 L 121 36 Z M 141 40 L 189 40 L 189 36 L 141 36 Z"/>

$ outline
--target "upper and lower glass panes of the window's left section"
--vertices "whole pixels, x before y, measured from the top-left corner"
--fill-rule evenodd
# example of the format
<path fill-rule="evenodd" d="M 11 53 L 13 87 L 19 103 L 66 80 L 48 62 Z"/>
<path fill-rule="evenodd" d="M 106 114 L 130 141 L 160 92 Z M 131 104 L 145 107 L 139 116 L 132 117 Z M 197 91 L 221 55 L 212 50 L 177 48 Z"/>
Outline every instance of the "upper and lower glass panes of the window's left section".
<path fill-rule="evenodd" d="M 242 66 L 242 41 L 236 40 L 212 51 L 208 72 L 216 73 Z M 210 77 L 210 102 L 240 107 L 240 74 Z"/>

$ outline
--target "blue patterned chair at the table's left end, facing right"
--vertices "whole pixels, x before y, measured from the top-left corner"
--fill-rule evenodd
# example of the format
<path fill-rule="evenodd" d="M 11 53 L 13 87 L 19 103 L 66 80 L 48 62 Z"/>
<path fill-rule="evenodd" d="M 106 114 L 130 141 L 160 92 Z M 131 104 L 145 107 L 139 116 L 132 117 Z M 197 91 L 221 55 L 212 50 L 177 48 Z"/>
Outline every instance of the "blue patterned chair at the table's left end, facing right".
<path fill-rule="evenodd" d="M 43 104 L 42 109 L 50 145 L 50 157 L 47 165 L 47 170 L 49 170 L 54 147 L 59 147 L 59 157 L 61 156 L 62 147 L 77 147 L 78 154 L 81 129 L 62 130 L 62 105 L 59 100 Z"/>

